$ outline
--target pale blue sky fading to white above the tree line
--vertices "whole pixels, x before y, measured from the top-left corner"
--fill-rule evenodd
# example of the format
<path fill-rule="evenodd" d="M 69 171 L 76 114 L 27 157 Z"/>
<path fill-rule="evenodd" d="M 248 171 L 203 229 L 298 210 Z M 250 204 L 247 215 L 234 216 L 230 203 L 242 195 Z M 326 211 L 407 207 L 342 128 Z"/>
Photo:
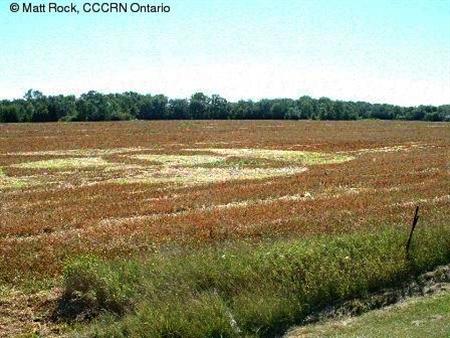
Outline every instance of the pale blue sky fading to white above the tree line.
<path fill-rule="evenodd" d="M 35 88 L 450 103 L 450 0 L 168 0 L 170 13 L 151 15 L 14 14 L 12 2 L 0 3 L 0 98 Z"/>

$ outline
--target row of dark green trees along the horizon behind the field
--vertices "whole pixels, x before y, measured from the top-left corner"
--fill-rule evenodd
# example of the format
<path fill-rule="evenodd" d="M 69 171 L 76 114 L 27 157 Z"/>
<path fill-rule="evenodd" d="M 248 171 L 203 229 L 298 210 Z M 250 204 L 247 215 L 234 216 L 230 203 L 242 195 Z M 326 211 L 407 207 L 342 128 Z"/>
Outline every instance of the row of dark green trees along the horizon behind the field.
<path fill-rule="evenodd" d="M 229 102 L 219 95 L 195 93 L 189 99 L 165 95 L 101 94 L 46 96 L 29 90 L 22 99 L 0 101 L 0 122 L 114 121 L 181 119 L 312 119 L 312 120 L 423 120 L 450 121 L 450 104 L 401 107 L 314 99 L 262 99 Z"/>

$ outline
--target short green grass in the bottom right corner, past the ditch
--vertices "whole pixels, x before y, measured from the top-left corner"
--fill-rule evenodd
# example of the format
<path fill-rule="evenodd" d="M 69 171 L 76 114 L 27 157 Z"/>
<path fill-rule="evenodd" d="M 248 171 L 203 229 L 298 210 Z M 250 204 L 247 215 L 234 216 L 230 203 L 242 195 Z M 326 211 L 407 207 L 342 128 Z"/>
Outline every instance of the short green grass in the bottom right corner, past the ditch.
<path fill-rule="evenodd" d="M 408 337 L 450 336 L 450 291 L 413 298 L 360 317 L 300 328 L 294 337 Z"/>

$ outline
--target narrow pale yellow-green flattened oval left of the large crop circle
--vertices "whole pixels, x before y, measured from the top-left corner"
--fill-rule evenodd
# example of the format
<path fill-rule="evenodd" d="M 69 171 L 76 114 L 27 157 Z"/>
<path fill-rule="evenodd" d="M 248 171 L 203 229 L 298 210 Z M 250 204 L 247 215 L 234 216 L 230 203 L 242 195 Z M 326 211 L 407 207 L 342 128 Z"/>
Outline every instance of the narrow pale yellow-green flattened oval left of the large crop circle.
<path fill-rule="evenodd" d="M 57 158 L 34 162 L 23 162 L 13 165 L 23 169 L 78 169 L 89 167 L 105 167 L 109 163 L 98 157 Z"/>

